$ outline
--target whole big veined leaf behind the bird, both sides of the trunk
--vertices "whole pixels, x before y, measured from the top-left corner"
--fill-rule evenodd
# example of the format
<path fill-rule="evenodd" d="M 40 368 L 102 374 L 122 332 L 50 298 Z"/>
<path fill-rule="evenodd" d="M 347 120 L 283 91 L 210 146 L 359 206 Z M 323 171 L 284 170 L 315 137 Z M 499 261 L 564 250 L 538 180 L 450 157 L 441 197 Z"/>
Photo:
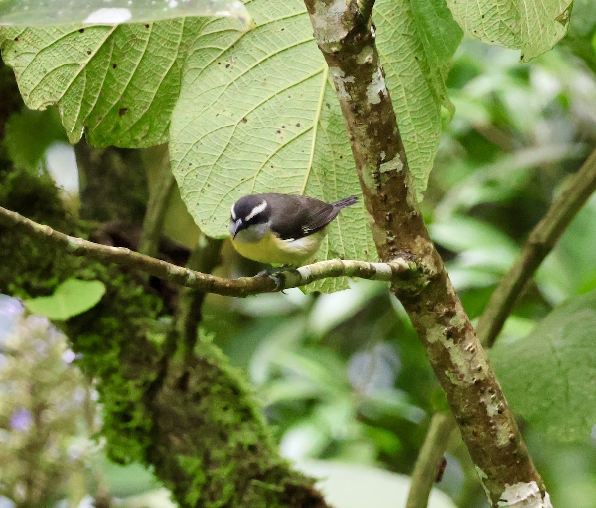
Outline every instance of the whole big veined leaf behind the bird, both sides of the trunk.
<path fill-rule="evenodd" d="M 415 186 L 422 191 L 439 139 L 440 105 L 448 104 L 442 73 L 461 30 L 443 0 L 420 8 L 417 17 L 405 3 L 381 0 L 374 15 Z M 213 236 L 226 234 L 229 207 L 244 194 L 279 191 L 332 201 L 359 192 L 339 104 L 303 2 L 275 4 L 275 10 L 269 0 L 247 5 L 256 29 L 223 48 L 221 32 L 229 21 L 218 20 L 197 39 L 172 119 L 170 154 L 182 198 Z M 435 22 L 440 37 L 432 31 Z M 425 44 L 445 40 L 448 49 L 426 57 Z M 214 45 L 221 54 L 200 49 Z M 344 210 L 329 232 L 319 258 L 374 257 L 362 205 Z M 340 287 L 339 281 L 315 286 Z"/>

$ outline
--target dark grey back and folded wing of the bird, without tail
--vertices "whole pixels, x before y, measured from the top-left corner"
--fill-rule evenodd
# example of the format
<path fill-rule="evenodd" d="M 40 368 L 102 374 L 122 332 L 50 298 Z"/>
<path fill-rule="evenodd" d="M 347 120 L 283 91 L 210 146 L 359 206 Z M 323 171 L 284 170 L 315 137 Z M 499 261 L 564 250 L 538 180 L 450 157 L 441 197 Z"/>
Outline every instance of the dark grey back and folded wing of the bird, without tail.
<path fill-rule="evenodd" d="M 271 230 L 281 239 L 302 238 L 327 226 L 339 214 L 341 207 L 299 195 L 285 195 L 276 201 Z"/>

